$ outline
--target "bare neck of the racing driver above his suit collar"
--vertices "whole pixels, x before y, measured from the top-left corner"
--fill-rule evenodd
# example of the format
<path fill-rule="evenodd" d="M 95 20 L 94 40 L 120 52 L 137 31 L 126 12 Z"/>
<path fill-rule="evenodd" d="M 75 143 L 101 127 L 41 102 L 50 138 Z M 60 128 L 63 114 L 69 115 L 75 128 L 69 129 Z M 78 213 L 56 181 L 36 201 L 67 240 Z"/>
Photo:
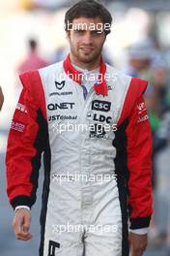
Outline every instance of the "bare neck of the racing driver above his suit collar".
<path fill-rule="evenodd" d="M 99 68 L 100 65 L 100 56 L 98 59 L 91 63 L 84 63 L 84 62 L 79 62 L 71 53 L 70 53 L 70 58 L 71 58 L 71 63 L 74 64 L 75 66 L 81 68 L 81 69 L 86 69 L 88 71 L 95 70 Z"/>

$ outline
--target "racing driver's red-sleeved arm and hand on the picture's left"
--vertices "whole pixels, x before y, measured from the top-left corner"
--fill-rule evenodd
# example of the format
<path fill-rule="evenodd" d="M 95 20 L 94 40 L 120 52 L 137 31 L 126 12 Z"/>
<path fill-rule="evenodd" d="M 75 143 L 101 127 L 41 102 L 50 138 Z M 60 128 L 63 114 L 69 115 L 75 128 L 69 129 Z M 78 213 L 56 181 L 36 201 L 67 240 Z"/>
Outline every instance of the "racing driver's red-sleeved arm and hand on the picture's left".
<path fill-rule="evenodd" d="M 31 211 L 36 201 L 39 169 L 43 151 L 42 91 L 31 86 L 27 76 L 21 92 L 8 138 L 6 166 L 7 193 L 14 208 L 14 234 L 18 240 L 29 240 Z M 24 84 L 25 83 L 25 84 Z M 34 84 L 33 84 L 34 85 Z M 34 88 L 36 87 L 36 88 Z M 37 93 L 35 93 L 34 89 Z M 27 208 L 18 208 L 25 206 Z"/>

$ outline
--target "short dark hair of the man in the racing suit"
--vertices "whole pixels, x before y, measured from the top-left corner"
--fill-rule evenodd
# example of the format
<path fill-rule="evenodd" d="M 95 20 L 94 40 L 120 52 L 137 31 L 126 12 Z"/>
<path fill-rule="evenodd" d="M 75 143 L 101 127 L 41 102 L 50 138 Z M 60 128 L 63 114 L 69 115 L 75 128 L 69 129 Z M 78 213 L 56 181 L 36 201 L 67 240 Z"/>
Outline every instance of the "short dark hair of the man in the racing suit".
<path fill-rule="evenodd" d="M 74 4 L 65 15 L 65 30 L 69 30 L 69 23 L 73 21 L 74 18 L 78 17 L 100 17 L 103 24 L 107 23 L 111 27 L 112 16 L 99 2 L 95 0 L 81 0 Z M 110 29 L 104 30 L 105 34 L 110 33 Z"/>

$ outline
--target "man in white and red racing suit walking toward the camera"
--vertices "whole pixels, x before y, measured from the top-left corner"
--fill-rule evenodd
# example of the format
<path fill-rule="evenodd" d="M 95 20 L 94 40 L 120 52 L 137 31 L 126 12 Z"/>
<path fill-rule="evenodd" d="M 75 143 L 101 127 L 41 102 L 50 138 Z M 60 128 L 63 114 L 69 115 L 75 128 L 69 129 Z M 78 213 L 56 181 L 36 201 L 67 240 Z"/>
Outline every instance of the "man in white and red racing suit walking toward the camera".
<path fill-rule="evenodd" d="M 147 82 L 102 61 L 111 22 L 98 2 L 78 2 L 65 17 L 69 56 L 20 76 L 23 91 L 6 159 L 8 195 L 16 239 L 30 240 L 29 208 L 43 152 L 41 256 L 127 256 L 128 245 L 132 256 L 140 256 L 147 246 Z"/>

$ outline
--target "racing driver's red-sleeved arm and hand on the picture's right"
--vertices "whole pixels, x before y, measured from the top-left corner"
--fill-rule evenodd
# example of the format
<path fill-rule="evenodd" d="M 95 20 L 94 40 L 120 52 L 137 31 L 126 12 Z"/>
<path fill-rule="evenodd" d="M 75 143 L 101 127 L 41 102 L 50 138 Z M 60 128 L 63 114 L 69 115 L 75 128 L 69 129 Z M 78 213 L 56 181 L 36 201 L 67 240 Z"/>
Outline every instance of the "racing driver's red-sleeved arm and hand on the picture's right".
<path fill-rule="evenodd" d="M 129 118 L 128 206 L 131 256 L 141 256 L 147 247 L 147 230 L 153 212 L 152 134 L 143 97 L 136 102 Z"/>

